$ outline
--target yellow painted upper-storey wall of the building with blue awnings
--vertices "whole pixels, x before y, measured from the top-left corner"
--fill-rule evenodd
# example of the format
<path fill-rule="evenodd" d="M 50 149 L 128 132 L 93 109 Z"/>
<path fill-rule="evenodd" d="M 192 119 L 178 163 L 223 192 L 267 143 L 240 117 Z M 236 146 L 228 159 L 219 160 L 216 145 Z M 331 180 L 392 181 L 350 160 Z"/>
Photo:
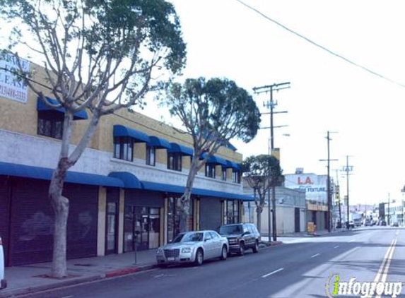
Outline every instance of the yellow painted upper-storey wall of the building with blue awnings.
<path fill-rule="evenodd" d="M 33 80 L 45 85 L 47 84 L 47 81 L 45 80 L 45 72 L 42 67 L 30 63 L 30 70 L 35 73 Z M 36 88 L 41 90 L 45 96 L 54 97 L 48 88 L 40 85 L 36 85 Z M 30 136 L 37 136 L 37 95 L 35 95 L 33 91 L 28 90 L 28 101 L 25 104 L 0 97 L 0 116 L 0 129 L 24 133 Z M 154 116 L 160 117 L 159 111 L 156 111 Z M 88 112 L 88 117 L 91 117 L 90 112 Z M 89 120 L 74 121 L 74 131 L 71 143 L 74 145 L 78 143 L 81 136 L 83 136 L 83 133 L 86 131 L 88 121 Z M 127 109 L 121 109 L 115 112 L 115 114 L 103 116 L 102 119 L 100 119 L 98 129 L 96 130 L 95 136 L 93 136 L 89 147 L 113 153 L 112 129 L 115 124 L 129 126 L 132 129 L 143 131 L 149 136 L 162 137 L 169 142 L 192 147 L 192 138 L 189 134 L 182 133 L 161 121 L 152 119 L 151 117 L 138 112 L 130 112 Z M 45 136 L 38 137 L 47 138 Z M 52 138 L 52 140 L 57 141 L 54 138 Z M 166 155 L 165 151 L 166 150 L 157 150 L 158 160 L 160 160 L 159 162 L 166 162 L 165 160 L 167 157 L 163 157 L 163 155 Z M 139 148 L 139 151 L 135 150 L 135 153 L 136 157 L 145 159 L 146 155 L 143 152 L 143 148 Z M 229 148 L 220 148 L 216 155 L 234 162 L 242 161 L 242 155 L 230 150 Z M 184 167 L 187 167 L 187 164 L 185 164 Z M 204 169 L 202 169 L 202 172 L 204 172 Z"/>

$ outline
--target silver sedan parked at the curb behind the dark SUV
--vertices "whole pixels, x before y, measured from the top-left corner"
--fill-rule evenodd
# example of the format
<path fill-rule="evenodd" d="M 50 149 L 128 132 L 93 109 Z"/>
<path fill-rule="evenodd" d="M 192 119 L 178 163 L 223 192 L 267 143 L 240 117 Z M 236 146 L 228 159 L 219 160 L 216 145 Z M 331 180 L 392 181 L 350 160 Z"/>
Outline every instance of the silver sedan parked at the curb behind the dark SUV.
<path fill-rule="evenodd" d="M 209 258 L 226 260 L 228 250 L 228 239 L 215 231 L 180 233 L 172 242 L 158 248 L 156 261 L 160 267 L 176 263 L 194 263 L 200 266 Z"/>

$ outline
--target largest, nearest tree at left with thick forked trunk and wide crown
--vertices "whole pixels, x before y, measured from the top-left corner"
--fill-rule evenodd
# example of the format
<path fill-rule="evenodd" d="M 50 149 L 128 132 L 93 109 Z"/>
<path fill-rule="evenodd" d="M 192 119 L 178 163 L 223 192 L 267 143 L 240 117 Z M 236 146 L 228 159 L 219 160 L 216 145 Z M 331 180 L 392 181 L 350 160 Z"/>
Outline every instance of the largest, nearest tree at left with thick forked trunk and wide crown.
<path fill-rule="evenodd" d="M 100 117 L 141 104 L 162 87 L 153 77 L 172 78 L 185 63 L 186 46 L 175 8 L 165 0 L 0 0 L 0 17 L 11 23 L 6 54 L 45 68 L 16 73 L 50 107 L 64 107 L 59 162 L 49 185 L 55 229 L 52 275 L 66 276 L 69 199 L 61 195 L 66 172 L 88 146 Z M 40 77 L 43 76 L 43 77 Z M 49 102 L 44 86 L 57 100 Z M 91 112 L 88 126 L 69 150 L 74 113 Z"/>

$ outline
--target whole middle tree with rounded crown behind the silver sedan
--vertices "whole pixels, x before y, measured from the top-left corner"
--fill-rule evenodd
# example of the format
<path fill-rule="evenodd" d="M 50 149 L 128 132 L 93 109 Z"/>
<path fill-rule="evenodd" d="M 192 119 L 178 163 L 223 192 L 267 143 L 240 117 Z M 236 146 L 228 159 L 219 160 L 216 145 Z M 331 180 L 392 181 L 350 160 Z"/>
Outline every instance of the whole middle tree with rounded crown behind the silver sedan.
<path fill-rule="evenodd" d="M 183 84 L 173 83 L 165 103 L 193 141 L 194 156 L 181 198 L 180 230 L 184 232 L 196 173 L 230 139 L 251 141 L 259 129 L 260 112 L 252 96 L 226 78 L 188 78 Z"/>

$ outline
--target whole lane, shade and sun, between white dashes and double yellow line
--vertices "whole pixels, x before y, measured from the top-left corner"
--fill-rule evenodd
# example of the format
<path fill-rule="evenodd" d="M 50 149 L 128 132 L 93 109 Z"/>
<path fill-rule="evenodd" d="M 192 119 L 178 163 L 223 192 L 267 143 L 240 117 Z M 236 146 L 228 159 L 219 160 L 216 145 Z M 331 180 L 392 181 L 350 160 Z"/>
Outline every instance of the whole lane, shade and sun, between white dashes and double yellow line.
<path fill-rule="evenodd" d="M 329 275 L 336 273 L 335 270 L 356 273 L 360 278 L 372 278 L 389 247 L 387 240 L 390 237 L 385 234 L 387 239 L 381 239 L 372 237 L 370 233 L 356 236 L 353 242 L 330 242 L 329 247 L 318 246 L 311 252 L 312 255 L 307 254 L 298 262 L 279 263 L 279 268 L 252 280 L 248 292 L 243 287 L 230 288 L 214 297 L 325 297 L 326 281 Z M 373 240 L 379 238 L 378 241 Z M 252 287 L 254 293 L 249 292 Z"/>

